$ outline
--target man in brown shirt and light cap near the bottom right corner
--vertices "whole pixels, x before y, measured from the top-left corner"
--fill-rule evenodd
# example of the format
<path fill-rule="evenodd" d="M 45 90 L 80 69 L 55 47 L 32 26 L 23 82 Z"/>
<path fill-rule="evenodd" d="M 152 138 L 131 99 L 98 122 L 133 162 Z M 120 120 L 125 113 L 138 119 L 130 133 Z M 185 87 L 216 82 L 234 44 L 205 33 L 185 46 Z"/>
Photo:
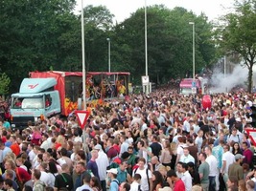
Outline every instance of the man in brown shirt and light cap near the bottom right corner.
<path fill-rule="evenodd" d="M 244 156 L 241 154 L 235 155 L 235 162 L 229 165 L 228 177 L 236 177 L 237 180 L 244 180 L 244 169 L 241 166 Z"/>

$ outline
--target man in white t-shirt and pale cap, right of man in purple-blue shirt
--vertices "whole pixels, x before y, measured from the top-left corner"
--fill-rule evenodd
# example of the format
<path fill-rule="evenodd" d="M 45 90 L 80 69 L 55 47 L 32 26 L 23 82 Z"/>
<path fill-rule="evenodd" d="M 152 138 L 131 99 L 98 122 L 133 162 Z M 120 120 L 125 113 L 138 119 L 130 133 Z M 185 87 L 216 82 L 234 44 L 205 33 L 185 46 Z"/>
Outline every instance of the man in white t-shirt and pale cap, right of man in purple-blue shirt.
<path fill-rule="evenodd" d="M 95 160 L 98 166 L 98 174 L 101 180 L 103 190 L 105 190 L 106 168 L 109 166 L 109 160 L 102 149 L 102 145 L 96 144 L 95 150 L 98 150 L 98 158 Z"/>

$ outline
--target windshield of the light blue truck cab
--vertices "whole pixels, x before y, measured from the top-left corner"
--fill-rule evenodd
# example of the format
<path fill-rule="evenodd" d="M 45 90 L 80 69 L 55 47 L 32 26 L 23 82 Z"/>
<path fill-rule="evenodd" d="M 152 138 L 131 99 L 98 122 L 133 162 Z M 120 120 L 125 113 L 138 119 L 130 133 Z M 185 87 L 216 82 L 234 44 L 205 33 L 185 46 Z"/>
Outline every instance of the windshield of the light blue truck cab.
<path fill-rule="evenodd" d="M 13 109 L 43 109 L 43 97 L 17 97 L 12 99 Z"/>

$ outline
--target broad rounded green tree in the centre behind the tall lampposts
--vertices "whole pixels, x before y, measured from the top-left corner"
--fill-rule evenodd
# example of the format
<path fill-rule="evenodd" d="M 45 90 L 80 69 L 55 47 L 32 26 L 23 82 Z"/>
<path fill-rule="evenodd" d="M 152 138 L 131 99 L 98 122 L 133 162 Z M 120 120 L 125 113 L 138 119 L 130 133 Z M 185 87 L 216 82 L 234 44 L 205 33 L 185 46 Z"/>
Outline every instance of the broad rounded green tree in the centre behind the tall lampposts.
<path fill-rule="evenodd" d="M 196 23 L 196 68 L 209 65 L 215 56 L 211 39 L 212 25 L 204 14 L 198 17 L 183 8 L 169 10 L 164 6 L 147 8 L 148 66 L 151 81 L 164 83 L 171 77 L 192 74 L 192 28 Z M 118 68 L 128 69 L 136 81 L 145 74 L 144 9 L 132 13 L 114 28 L 117 36 Z M 208 53 L 207 53 L 208 52 Z"/>

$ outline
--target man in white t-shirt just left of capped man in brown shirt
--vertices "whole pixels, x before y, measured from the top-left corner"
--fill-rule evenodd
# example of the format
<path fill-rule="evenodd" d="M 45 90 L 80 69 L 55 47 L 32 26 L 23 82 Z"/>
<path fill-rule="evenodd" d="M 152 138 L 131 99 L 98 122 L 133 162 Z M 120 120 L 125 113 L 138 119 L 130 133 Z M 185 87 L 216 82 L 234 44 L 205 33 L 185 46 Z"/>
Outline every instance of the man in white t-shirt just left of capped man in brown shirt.
<path fill-rule="evenodd" d="M 223 145 L 224 153 L 222 155 L 222 167 L 221 167 L 221 175 L 223 177 L 224 182 L 228 180 L 228 167 L 230 164 L 235 162 L 235 156 L 229 151 L 230 147 L 228 144 Z M 226 185 L 227 186 L 227 185 Z"/>

